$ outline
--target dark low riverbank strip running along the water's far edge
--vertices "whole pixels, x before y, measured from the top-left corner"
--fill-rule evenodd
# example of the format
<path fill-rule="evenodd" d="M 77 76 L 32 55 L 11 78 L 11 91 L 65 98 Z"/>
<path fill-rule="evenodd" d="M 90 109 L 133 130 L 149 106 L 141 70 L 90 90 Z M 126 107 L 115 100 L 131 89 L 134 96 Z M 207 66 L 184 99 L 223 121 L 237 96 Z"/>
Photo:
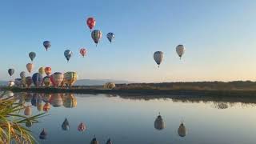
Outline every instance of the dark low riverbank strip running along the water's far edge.
<path fill-rule="evenodd" d="M 114 89 L 105 90 L 98 88 L 19 88 L 2 87 L 2 90 L 11 90 L 13 92 L 31 92 L 31 93 L 74 93 L 74 94 L 129 94 L 129 95 L 176 95 L 176 96 L 213 96 L 213 97 L 255 97 L 256 90 L 158 90 L 158 89 Z"/>

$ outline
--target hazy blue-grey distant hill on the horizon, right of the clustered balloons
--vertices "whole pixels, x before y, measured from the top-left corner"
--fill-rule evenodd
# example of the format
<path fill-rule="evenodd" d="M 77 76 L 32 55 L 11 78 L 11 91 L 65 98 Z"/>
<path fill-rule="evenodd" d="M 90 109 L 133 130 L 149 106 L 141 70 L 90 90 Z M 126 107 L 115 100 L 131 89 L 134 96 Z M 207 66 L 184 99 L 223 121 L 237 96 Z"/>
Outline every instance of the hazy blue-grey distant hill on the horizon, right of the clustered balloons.
<path fill-rule="evenodd" d="M 116 84 L 133 83 L 129 81 L 113 80 L 113 79 L 79 79 L 74 86 L 102 86 L 106 82 L 114 82 Z"/>

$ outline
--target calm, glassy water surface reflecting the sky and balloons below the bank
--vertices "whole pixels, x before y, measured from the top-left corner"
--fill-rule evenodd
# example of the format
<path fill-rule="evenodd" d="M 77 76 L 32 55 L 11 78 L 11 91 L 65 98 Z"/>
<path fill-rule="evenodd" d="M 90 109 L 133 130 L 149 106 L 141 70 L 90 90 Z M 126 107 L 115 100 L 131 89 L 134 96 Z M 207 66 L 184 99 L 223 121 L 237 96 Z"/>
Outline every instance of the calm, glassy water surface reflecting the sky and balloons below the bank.
<path fill-rule="evenodd" d="M 38 138 L 39 143 L 90 143 L 94 135 L 99 143 L 111 138 L 118 144 L 256 142 L 254 104 L 145 100 L 107 94 L 15 94 L 15 97 L 26 102 L 26 106 L 34 105 L 33 114 L 42 113 L 43 105 L 50 102 L 49 115 L 30 127 L 36 138 L 42 129 L 46 130 L 46 140 Z M 154 128 L 159 112 L 165 122 L 163 130 Z M 65 118 L 70 122 L 70 130 L 62 130 Z M 80 122 L 86 124 L 86 131 L 78 131 Z M 178 135 L 181 122 L 186 126 L 185 137 Z"/>

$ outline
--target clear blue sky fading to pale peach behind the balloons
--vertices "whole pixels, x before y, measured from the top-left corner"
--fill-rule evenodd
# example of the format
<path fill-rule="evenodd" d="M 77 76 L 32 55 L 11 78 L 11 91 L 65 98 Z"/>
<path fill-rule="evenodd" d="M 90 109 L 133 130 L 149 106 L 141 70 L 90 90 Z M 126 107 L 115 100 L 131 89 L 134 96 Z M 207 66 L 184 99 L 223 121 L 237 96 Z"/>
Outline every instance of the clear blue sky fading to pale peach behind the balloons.
<path fill-rule="evenodd" d="M 129 0 L 5 1 L 0 6 L 0 79 L 26 71 L 30 51 L 40 66 L 77 71 L 79 78 L 136 82 L 256 80 L 256 1 Z M 96 47 L 86 18 L 96 19 L 103 37 Z M 112 44 L 106 34 L 113 32 Z M 48 52 L 42 42 L 50 40 Z M 178 59 L 175 46 L 186 53 Z M 78 54 L 86 47 L 88 55 Z M 70 62 L 64 50 L 74 55 Z M 164 52 L 160 69 L 154 51 Z"/>

